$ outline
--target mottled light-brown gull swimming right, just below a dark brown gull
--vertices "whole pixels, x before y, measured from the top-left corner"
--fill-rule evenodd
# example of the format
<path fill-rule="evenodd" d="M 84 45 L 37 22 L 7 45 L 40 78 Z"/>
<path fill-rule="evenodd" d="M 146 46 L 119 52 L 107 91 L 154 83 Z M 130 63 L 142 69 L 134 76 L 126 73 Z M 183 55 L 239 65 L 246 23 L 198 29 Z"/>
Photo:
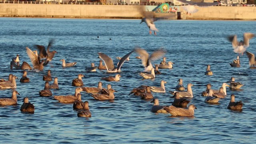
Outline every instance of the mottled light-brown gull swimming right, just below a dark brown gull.
<path fill-rule="evenodd" d="M 188 109 L 176 108 L 175 106 L 164 107 L 164 110 L 166 110 L 172 116 L 194 116 L 194 109 L 197 109 L 194 104 L 190 104 Z"/>

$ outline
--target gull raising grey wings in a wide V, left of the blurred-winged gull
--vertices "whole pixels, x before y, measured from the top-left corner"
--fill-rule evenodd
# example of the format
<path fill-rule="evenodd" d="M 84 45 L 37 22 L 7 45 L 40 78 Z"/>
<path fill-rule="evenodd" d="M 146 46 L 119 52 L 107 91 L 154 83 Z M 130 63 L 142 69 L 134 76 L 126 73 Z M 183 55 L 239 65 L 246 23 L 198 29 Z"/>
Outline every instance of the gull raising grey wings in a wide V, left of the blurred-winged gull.
<path fill-rule="evenodd" d="M 123 56 L 120 59 L 117 68 L 114 67 L 113 60 L 109 56 L 107 56 L 106 54 L 103 54 L 103 53 L 98 53 L 98 54 L 99 54 L 100 58 L 102 58 L 102 60 L 104 61 L 106 68 L 107 68 L 107 72 L 120 72 L 121 66 L 124 64 L 124 62 L 130 56 L 130 54 L 132 54 L 132 52 L 134 52 L 134 50 L 129 52 L 128 54 L 126 54 L 125 56 Z"/>

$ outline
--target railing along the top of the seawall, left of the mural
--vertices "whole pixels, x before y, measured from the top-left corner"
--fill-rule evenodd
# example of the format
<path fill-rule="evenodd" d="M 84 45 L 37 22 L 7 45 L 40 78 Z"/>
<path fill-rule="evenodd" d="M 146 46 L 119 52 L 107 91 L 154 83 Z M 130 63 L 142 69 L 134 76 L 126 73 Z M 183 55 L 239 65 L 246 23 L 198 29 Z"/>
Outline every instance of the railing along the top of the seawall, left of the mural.
<path fill-rule="evenodd" d="M 162 3 L 102 3 L 102 2 L 41 2 L 41 1 L 10 1 L 10 0 L 0 0 L 0 3 L 5 4 L 86 4 L 86 5 L 138 5 L 138 6 L 158 6 Z"/>

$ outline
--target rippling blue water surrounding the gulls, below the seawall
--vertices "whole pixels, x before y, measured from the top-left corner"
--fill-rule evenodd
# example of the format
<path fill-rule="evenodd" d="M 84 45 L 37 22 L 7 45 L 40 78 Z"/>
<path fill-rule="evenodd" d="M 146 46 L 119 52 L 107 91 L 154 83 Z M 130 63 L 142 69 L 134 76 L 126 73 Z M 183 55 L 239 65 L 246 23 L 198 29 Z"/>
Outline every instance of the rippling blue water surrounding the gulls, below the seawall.
<path fill-rule="evenodd" d="M 18 105 L 0 107 L 1 143 L 253 143 L 256 140 L 255 70 L 249 69 L 245 54 L 240 56 L 240 68 L 230 67 L 229 63 L 237 55 L 226 36 L 237 34 L 240 40 L 243 32 L 256 33 L 256 22 L 166 20 L 155 22 L 159 29 L 157 36 L 149 35 L 146 24 L 139 23 L 140 20 L 0 18 L 0 78 L 7 78 L 10 73 L 22 77 L 22 71 L 10 70 L 9 64 L 12 57 L 20 54 L 20 60 L 31 65 L 26 46 L 35 50 L 34 44 L 47 46 L 54 38 L 51 50 L 58 52 L 43 72 L 28 72 L 29 83 L 16 80 L 16 90 L 20 93 Z M 58 77 L 60 86 L 59 90 L 52 90 L 53 95 L 73 94 L 75 87 L 71 83 L 80 73 L 85 75 L 84 86 L 97 86 L 101 77 L 115 75 L 100 70 L 85 72 L 91 62 L 98 65 L 98 52 L 108 54 L 116 64 L 115 57 L 124 56 L 134 46 L 148 53 L 166 48 L 167 61 L 175 64 L 171 70 L 160 70 L 162 74 L 154 80 L 142 80 L 139 72 L 144 68 L 133 53 L 121 68 L 120 82 L 102 81 L 104 87 L 111 84 L 118 91 L 115 100 L 97 101 L 90 94 L 82 93 L 82 100 L 89 102 L 91 118 L 78 118 L 72 104 L 39 96 L 45 84 L 42 76 L 48 69 L 53 77 Z M 256 38 L 253 38 L 248 51 L 256 53 L 255 47 Z M 77 65 L 62 68 L 59 61 L 62 58 Z M 204 75 L 207 64 L 211 65 L 213 76 Z M 227 97 L 219 104 L 204 103 L 205 97 L 200 94 L 206 84 L 218 89 L 231 76 L 245 84 L 243 90 L 227 89 Z M 178 78 L 183 78 L 184 85 L 194 84 L 194 98 L 190 102 L 198 108 L 194 117 L 155 114 L 150 112 L 150 100 L 128 95 L 140 85 L 160 86 L 160 80 L 168 82 L 166 91 L 174 90 Z M 10 97 L 11 92 L 1 90 L 0 97 Z M 226 108 L 231 94 L 236 95 L 236 101 L 244 103 L 242 112 Z M 171 105 L 174 100 L 168 92 L 153 95 L 160 105 Z M 34 103 L 34 114 L 20 112 L 24 97 Z"/>

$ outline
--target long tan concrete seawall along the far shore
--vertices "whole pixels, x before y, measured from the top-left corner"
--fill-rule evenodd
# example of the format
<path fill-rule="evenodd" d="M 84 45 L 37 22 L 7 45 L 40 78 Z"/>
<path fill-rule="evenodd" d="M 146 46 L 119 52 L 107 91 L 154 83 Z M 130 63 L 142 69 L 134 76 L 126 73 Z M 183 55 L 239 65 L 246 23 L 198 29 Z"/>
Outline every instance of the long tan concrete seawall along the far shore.
<path fill-rule="evenodd" d="M 143 6 L 82 5 L 82 4 L 8 4 L 0 3 L 0 17 L 41 18 L 141 18 Z M 180 7 L 182 11 L 182 6 Z M 170 19 L 192 20 L 256 20 L 256 7 L 211 6 L 198 7 L 199 12 L 187 15 L 168 13 Z M 163 14 L 158 14 L 163 15 Z"/>

